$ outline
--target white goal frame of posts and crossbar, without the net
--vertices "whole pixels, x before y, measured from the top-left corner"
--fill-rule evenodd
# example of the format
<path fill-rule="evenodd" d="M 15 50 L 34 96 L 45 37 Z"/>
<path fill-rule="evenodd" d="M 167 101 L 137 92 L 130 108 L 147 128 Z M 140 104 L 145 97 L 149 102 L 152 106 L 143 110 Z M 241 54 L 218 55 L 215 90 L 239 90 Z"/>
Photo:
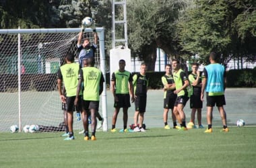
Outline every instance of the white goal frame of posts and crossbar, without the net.
<path fill-rule="evenodd" d="M 18 34 L 18 111 L 19 111 L 19 129 L 22 131 L 22 108 L 21 108 L 21 50 L 20 50 L 20 34 L 46 34 L 46 33 L 79 33 L 81 28 L 51 28 L 51 29 L 5 29 L 0 30 L 0 34 Z M 92 28 L 86 28 L 84 32 L 93 32 Z M 96 28 L 96 32 L 99 37 L 99 50 L 100 50 L 100 70 L 106 81 L 106 58 L 104 53 L 104 28 Z M 108 130 L 107 123 L 107 108 L 106 108 L 106 82 L 104 82 L 104 88 L 101 95 L 101 104 L 102 104 L 102 118 L 104 118 L 104 123 L 102 129 L 104 132 Z"/>

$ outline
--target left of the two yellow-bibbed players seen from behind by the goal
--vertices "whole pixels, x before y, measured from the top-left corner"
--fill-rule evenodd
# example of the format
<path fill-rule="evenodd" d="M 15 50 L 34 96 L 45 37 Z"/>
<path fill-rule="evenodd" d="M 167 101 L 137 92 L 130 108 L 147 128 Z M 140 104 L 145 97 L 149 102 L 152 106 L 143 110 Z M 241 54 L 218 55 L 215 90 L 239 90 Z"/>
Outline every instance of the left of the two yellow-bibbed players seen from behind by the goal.
<path fill-rule="evenodd" d="M 76 88 L 78 84 L 78 73 L 79 65 L 74 62 L 75 58 L 73 54 L 67 53 L 65 56 L 65 65 L 62 65 L 57 74 L 58 89 L 61 101 L 66 103 L 67 110 L 67 125 L 69 128 L 69 137 L 64 140 L 73 140 L 75 139 L 73 135 L 73 111 L 75 110 L 74 100 L 76 95 Z M 66 96 L 63 93 L 61 86 L 65 85 Z M 77 107 L 79 108 L 79 107 Z"/>

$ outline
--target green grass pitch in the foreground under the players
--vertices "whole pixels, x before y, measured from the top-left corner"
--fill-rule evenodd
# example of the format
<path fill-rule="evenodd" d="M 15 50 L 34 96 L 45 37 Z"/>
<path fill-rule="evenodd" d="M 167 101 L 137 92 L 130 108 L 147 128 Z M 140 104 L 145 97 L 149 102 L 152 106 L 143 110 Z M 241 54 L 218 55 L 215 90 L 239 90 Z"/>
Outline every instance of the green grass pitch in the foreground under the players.
<path fill-rule="evenodd" d="M 255 127 L 97 132 L 96 141 L 59 133 L 1 133 L 0 167 L 255 167 Z"/>

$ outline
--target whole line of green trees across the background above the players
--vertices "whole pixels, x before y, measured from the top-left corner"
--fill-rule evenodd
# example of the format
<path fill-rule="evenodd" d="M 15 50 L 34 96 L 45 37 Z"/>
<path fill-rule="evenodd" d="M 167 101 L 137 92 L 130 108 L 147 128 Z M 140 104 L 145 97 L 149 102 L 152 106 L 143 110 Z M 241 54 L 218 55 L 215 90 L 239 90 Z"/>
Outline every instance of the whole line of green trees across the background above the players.
<path fill-rule="evenodd" d="M 123 17 L 123 9 L 115 12 Z M 0 1 L 1 29 L 78 28 L 85 16 L 95 17 L 96 26 L 105 28 L 109 51 L 112 0 Z M 131 55 L 152 71 L 156 48 L 181 61 L 207 63 L 214 50 L 223 65 L 234 58 L 255 62 L 254 0 L 127 0 L 127 27 Z"/>

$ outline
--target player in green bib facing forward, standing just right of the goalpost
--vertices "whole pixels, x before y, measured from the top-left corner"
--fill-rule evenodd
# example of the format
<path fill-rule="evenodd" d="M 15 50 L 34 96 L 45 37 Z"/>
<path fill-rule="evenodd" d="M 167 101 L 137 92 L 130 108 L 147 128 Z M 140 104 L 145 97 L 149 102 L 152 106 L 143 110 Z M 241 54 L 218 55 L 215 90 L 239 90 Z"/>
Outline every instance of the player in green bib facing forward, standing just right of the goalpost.
<path fill-rule="evenodd" d="M 131 107 L 130 95 L 131 102 L 133 103 L 134 101 L 133 78 L 131 73 L 125 70 L 125 60 L 123 59 L 119 60 L 119 70 L 112 74 L 111 91 L 115 101 L 111 132 L 117 132 L 115 125 L 120 108 L 123 108 L 123 129 L 119 130 L 119 132 L 131 132 L 132 130 L 127 129 L 127 121 L 128 108 Z"/>

